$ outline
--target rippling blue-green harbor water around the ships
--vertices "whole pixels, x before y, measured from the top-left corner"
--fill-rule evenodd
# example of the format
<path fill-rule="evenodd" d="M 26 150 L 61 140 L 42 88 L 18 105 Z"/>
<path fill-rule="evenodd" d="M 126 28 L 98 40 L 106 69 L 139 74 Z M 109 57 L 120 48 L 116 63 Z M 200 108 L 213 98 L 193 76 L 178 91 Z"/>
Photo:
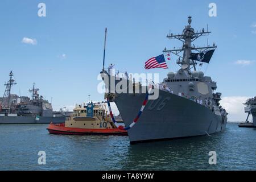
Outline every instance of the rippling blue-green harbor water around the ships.
<path fill-rule="evenodd" d="M 135 145 L 121 136 L 52 135 L 47 126 L 0 125 L 0 170 L 256 170 L 256 129 L 237 124 L 211 136 Z"/>

